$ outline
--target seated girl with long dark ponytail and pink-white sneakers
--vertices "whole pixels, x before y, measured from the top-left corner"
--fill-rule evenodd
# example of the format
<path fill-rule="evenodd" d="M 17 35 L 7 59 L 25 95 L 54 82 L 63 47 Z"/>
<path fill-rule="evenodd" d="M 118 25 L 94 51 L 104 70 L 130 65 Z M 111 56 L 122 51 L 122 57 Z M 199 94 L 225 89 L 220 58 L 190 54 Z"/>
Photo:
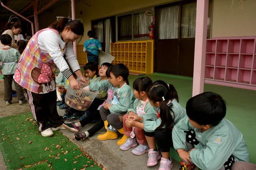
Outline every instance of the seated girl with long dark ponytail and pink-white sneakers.
<path fill-rule="evenodd" d="M 155 115 L 158 119 L 155 120 L 149 115 L 130 115 L 126 125 L 144 129 L 150 147 L 147 166 L 156 165 L 162 154 L 159 169 L 171 170 L 172 127 L 186 116 L 186 111 L 178 103 L 178 94 L 172 84 L 156 81 L 148 88 L 147 94 L 150 104 L 157 107 Z M 156 150 L 155 139 L 161 154 Z"/>

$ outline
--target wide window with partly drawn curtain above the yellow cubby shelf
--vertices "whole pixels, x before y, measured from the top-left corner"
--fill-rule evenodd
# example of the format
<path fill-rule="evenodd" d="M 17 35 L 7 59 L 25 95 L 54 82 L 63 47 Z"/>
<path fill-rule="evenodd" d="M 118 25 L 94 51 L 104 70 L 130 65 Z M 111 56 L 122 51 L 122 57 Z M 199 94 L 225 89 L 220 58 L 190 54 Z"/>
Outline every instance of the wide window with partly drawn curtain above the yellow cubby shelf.
<path fill-rule="evenodd" d="M 149 25 L 153 22 L 154 8 L 117 16 L 118 41 L 149 39 Z"/>

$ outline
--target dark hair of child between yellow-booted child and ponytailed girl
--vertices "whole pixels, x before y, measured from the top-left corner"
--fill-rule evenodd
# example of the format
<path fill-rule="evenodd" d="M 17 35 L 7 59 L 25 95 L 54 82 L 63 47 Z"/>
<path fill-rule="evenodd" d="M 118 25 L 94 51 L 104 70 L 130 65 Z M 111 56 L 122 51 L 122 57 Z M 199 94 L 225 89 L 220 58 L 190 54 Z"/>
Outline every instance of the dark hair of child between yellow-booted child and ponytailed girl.
<path fill-rule="evenodd" d="M 152 84 L 152 80 L 149 77 L 139 77 L 134 80 L 132 87 L 138 92 L 146 92 L 150 84 Z"/>

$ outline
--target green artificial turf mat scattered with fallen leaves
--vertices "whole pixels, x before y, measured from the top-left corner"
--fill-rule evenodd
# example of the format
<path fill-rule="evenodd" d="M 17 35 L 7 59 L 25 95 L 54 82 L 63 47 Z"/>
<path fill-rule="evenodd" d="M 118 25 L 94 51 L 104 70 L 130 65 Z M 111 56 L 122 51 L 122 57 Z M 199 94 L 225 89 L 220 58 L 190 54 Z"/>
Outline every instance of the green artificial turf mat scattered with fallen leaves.
<path fill-rule="evenodd" d="M 1 118 L 0 134 L 0 149 L 8 169 L 28 167 L 48 159 L 51 160 L 55 170 L 63 169 L 59 168 L 58 165 L 63 164 L 62 160 L 56 159 L 56 156 L 69 156 L 71 160 L 71 156 L 78 154 L 80 151 L 76 145 L 59 131 L 54 131 L 52 137 L 42 137 L 38 132 L 37 123 L 32 119 L 31 113 Z M 73 152 L 74 154 L 71 154 Z M 82 152 L 80 151 L 79 154 L 82 154 Z M 79 162 L 82 163 L 84 161 L 83 165 L 91 165 L 91 163 L 87 162 L 89 160 L 86 157 L 81 156 L 81 158 L 83 160 Z M 80 165 L 80 163 L 77 165 Z M 72 165 L 72 167 L 75 166 Z M 80 167 L 78 169 L 81 169 Z M 74 168 L 68 167 L 68 169 Z"/>

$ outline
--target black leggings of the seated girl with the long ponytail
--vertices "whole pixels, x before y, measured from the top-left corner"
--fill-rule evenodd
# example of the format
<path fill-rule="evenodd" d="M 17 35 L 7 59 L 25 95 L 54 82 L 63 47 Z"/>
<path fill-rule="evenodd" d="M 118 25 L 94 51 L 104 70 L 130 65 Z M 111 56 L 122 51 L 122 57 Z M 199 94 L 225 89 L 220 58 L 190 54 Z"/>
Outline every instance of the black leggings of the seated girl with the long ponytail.
<path fill-rule="evenodd" d="M 160 152 L 170 152 L 170 147 L 173 148 L 172 129 L 166 129 L 166 131 L 164 131 L 164 129 L 161 128 L 156 129 L 154 132 L 144 131 L 144 134 L 145 136 L 156 138 L 156 143 Z"/>

